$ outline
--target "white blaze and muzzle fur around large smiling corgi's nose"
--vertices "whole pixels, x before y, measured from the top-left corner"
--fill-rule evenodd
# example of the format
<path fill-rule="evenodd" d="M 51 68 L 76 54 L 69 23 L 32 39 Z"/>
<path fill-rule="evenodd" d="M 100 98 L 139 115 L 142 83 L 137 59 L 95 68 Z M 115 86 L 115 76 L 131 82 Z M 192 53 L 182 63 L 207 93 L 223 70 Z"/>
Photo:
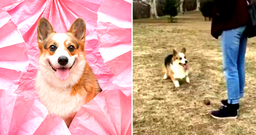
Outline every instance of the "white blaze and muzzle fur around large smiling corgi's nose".
<path fill-rule="evenodd" d="M 78 58 L 78 55 L 74 55 L 74 56 L 69 56 L 66 46 L 64 45 L 65 40 L 68 38 L 68 35 L 65 33 L 58 33 L 56 35 L 54 35 L 52 37 L 52 39 L 54 41 L 56 41 L 57 43 L 59 43 L 59 47 L 56 49 L 55 53 L 51 56 L 45 56 L 46 58 L 48 58 L 50 60 L 50 62 L 52 63 L 52 65 L 56 68 L 61 68 L 62 66 L 58 63 L 58 59 L 60 56 L 66 56 L 68 58 L 68 64 L 65 65 L 65 68 L 70 68 L 75 59 Z"/>

